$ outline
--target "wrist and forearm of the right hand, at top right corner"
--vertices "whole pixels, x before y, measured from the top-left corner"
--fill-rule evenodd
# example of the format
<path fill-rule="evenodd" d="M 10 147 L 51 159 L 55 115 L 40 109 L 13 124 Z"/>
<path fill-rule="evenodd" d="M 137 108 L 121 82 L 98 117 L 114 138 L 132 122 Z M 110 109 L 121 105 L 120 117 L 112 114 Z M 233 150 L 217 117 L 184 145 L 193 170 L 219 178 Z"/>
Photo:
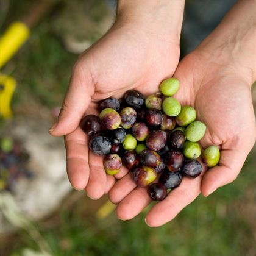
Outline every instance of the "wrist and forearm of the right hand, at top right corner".
<path fill-rule="evenodd" d="M 197 48 L 208 59 L 241 74 L 251 88 L 256 80 L 254 1 L 238 1 Z"/>

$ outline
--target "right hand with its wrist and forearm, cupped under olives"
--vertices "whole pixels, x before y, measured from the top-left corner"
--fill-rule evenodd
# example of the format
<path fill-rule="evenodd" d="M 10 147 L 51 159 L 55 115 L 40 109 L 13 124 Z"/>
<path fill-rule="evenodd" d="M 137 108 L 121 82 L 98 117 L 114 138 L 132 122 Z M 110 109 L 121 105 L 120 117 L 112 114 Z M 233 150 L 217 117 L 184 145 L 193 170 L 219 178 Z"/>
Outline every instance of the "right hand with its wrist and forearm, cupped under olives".
<path fill-rule="evenodd" d="M 221 158 L 217 166 L 204 169 L 196 179 L 183 177 L 179 187 L 149 210 L 145 219 L 149 226 L 171 221 L 200 193 L 208 196 L 233 182 L 255 143 L 251 85 L 256 79 L 256 52 L 251 3 L 238 2 L 199 48 L 180 62 L 174 74 L 181 84 L 176 98 L 182 105 L 195 107 L 197 119 L 208 127 L 200 141 L 202 147 L 219 146 Z M 241 24 L 244 13 L 247 20 Z M 151 202 L 148 191 L 135 188 L 129 174 L 116 183 L 109 196 L 118 204 L 116 213 L 123 220 L 138 215 Z"/>

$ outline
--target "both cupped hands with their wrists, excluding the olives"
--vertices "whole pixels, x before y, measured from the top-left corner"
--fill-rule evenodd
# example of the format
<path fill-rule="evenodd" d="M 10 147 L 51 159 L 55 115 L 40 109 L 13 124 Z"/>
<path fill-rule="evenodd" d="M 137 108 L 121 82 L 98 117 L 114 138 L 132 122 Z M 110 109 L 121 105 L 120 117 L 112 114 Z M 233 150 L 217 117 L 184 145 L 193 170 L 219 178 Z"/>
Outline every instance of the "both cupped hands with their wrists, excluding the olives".
<path fill-rule="evenodd" d="M 127 3 L 133 5 L 134 2 L 135 6 L 125 8 Z M 121 169 L 116 175 L 119 179 L 116 183 L 113 177 L 107 176 L 102 157 L 88 152 L 88 138 L 78 124 L 85 113 L 96 113 L 95 102 L 99 99 L 112 95 L 120 97 L 131 88 L 145 94 L 154 93 L 163 79 L 172 76 L 179 59 L 177 38 L 180 29 L 177 27 L 180 23 L 176 20 L 182 17 L 173 8 L 180 2 L 168 1 L 174 6 L 171 9 L 167 6 L 160 8 L 163 13 L 168 12 L 158 15 L 154 1 L 147 4 L 148 8 L 154 3 L 149 11 L 145 11 L 145 5 L 140 1 L 120 1 L 121 18 L 104 38 L 79 58 L 59 121 L 49 131 L 56 136 L 66 135 L 67 169 L 73 187 L 78 190 L 85 188 L 88 196 L 94 199 L 111 188 L 109 197 L 118 204 L 116 213 L 119 219 L 138 215 L 151 202 L 148 191 L 136 188 L 126 169 Z M 143 12 L 140 12 L 140 7 L 144 8 Z M 183 7 L 180 10 L 183 11 Z M 170 15 L 172 11 L 176 15 L 179 13 L 177 19 Z M 124 13 L 126 15 L 122 15 Z M 155 15 L 150 16 L 152 13 Z M 172 24 L 175 29 L 170 29 L 169 16 L 176 23 Z M 150 22 L 153 17 L 154 24 Z M 157 20 L 159 17 L 160 21 Z M 164 22 L 161 23 L 161 19 Z M 196 179 L 184 177 L 178 188 L 149 210 L 145 219 L 149 226 L 161 226 L 171 221 L 201 192 L 208 196 L 216 188 L 232 182 L 240 172 L 255 142 L 250 92 L 255 80 L 255 23 L 254 2 L 238 2 L 199 48 L 180 62 L 174 73 L 174 77 L 180 80 L 176 98 L 182 105 L 195 107 L 197 119 L 208 127 L 200 141 L 202 147 L 218 145 L 221 160 L 218 166 Z M 172 37 L 166 38 L 168 34 Z"/>

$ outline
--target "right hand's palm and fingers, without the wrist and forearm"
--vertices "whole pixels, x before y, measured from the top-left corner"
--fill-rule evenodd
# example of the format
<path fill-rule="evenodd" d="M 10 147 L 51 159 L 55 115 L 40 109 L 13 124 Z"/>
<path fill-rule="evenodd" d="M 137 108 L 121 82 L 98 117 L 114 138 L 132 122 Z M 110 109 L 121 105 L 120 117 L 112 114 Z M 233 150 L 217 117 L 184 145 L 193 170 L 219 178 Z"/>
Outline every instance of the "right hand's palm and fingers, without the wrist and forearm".
<path fill-rule="evenodd" d="M 218 166 L 196 179 L 183 177 L 179 187 L 162 202 L 154 205 L 146 216 L 149 226 L 171 221 L 201 192 L 204 196 L 232 182 L 240 172 L 255 142 L 255 118 L 249 82 L 233 65 L 221 65 L 204 52 L 194 51 L 179 64 L 174 77 L 180 80 L 175 95 L 182 105 L 193 105 L 197 119 L 207 125 L 203 148 L 217 145 L 221 149 Z M 131 219 L 150 202 L 146 188 L 136 187 L 128 173 L 110 190 L 110 199 L 118 204 L 120 219 Z"/>

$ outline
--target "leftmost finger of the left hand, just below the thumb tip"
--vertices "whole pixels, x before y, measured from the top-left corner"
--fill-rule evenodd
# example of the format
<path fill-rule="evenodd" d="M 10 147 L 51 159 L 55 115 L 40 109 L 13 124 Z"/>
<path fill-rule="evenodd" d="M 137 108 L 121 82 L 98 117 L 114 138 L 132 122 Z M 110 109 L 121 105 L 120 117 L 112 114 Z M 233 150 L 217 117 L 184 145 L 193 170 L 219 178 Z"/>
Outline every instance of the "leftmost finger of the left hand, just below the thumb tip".
<path fill-rule="evenodd" d="M 76 190 L 83 190 L 89 177 L 88 137 L 78 127 L 65 136 L 68 179 Z"/>

